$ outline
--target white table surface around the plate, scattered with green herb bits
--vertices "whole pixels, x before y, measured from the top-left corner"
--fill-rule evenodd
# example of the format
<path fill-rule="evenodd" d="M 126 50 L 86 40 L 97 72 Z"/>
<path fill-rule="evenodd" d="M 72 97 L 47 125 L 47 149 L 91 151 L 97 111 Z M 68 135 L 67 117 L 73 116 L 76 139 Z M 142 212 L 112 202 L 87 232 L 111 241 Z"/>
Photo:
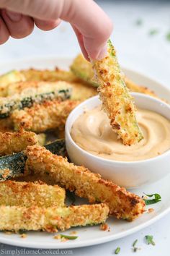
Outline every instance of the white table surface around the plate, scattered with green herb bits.
<path fill-rule="evenodd" d="M 166 33 L 170 32 L 170 1 L 98 1 L 112 18 L 115 30 L 112 40 L 117 48 L 120 63 L 124 67 L 147 74 L 155 80 L 170 86 L 170 41 Z M 142 25 L 136 25 L 136 20 Z M 149 35 L 156 29 L 158 34 Z M 79 46 L 70 25 L 63 22 L 58 29 L 34 33 L 22 40 L 10 39 L 0 46 L 0 63 L 23 59 L 30 56 L 76 56 Z M 164 185 L 164 184 L 163 184 Z M 147 245 L 143 239 L 146 234 L 154 236 L 156 246 Z M 119 255 L 133 255 L 131 244 L 138 239 L 138 255 L 169 255 L 170 214 L 138 233 L 93 247 L 73 249 L 66 255 L 114 255 L 116 247 L 121 247 Z M 12 250 L 8 252 L 7 250 Z M 11 247 L 0 244 L 0 255 L 52 255 L 53 251 Z M 58 252 L 61 255 L 62 252 Z"/>

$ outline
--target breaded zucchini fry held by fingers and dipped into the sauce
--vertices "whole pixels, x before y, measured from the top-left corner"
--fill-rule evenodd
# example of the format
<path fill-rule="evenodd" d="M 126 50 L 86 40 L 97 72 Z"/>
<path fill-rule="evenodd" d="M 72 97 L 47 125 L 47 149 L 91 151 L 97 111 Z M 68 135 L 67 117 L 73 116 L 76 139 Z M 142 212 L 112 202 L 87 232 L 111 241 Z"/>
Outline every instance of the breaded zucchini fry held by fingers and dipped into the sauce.
<path fill-rule="evenodd" d="M 112 129 L 124 145 L 133 145 L 143 139 L 143 134 L 136 120 L 133 98 L 125 86 L 115 48 L 110 40 L 107 49 L 108 55 L 104 59 L 93 61 L 99 83 L 99 95 Z"/>

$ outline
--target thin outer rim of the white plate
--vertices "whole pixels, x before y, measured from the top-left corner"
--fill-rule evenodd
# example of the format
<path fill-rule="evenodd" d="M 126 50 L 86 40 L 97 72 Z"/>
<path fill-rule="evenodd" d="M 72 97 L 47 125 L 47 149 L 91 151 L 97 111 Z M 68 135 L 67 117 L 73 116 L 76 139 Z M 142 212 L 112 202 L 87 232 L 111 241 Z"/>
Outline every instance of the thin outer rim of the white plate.
<path fill-rule="evenodd" d="M 30 56 L 27 58 L 20 58 L 17 60 L 9 60 L 9 61 L 4 61 L 3 64 L 0 63 L 0 68 L 1 67 L 7 67 L 8 65 L 12 65 L 15 64 L 16 62 L 20 62 L 22 64 L 22 62 L 28 62 L 28 61 L 32 61 L 32 66 L 34 66 L 34 61 L 45 61 L 45 60 L 49 60 L 49 61 L 71 61 L 71 57 L 68 56 L 63 56 L 63 57 L 54 57 L 54 56 Z M 57 66 L 57 64 L 56 64 Z M 164 83 L 155 80 L 153 77 L 148 76 L 147 74 L 143 74 L 142 72 L 138 72 L 135 69 L 129 69 L 127 67 L 123 67 L 122 69 L 125 69 L 129 72 L 135 73 L 145 79 L 151 80 L 152 82 L 156 82 L 158 84 L 161 85 L 162 88 L 165 88 L 166 90 L 169 90 L 170 93 L 170 89 L 168 87 L 168 85 L 164 85 Z M 167 178 L 166 178 L 167 179 Z M 163 179 L 164 180 L 164 179 Z M 140 231 L 141 229 L 146 228 L 147 226 L 150 226 L 151 224 L 155 223 L 156 221 L 158 221 L 159 219 L 163 218 L 164 216 L 166 216 L 166 214 L 170 213 L 170 205 L 168 208 L 166 208 L 165 210 L 163 210 L 161 213 L 158 213 L 158 215 L 153 216 L 153 218 L 149 219 L 148 221 L 145 221 L 144 223 L 140 223 L 138 226 L 134 226 L 131 229 L 125 230 L 125 231 L 121 231 L 118 234 L 111 234 L 110 236 L 105 236 L 105 237 L 100 237 L 100 238 L 95 238 L 95 239 L 90 239 L 90 240 L 86 240 L 86 241 L 82 241 L 79 242 L 78 244 L 75 243 L 68 243 L 68 244 L 52 244 L 50 242 L 48 242 L 47 244 L 40 244 L 37 242 L 30 242 L 27 240 L 22 240 L 21 241 L 16 241 L 15 239 L 10 239 L 10 237 L 2 237 L 1 233 L 0 233 L 0 242 L 4 243 L 4 244 L 9 244 L 12 246 L 18 246 L 18 247 L 27 247 L 27 248 L 35 248 L 35 249 L 71 249 L 71 248 L 79 248 L 79 247 L 89 247 L 91 245 L 97 245 L 97 244 L 104 244 L 106 242 L 110 242 L 110 241 L 114 241 L 116 239 L 120 239 L 122 237 L 125 236 L 129 236 L 130 234 L 133 234 L 137 231 Z"/>

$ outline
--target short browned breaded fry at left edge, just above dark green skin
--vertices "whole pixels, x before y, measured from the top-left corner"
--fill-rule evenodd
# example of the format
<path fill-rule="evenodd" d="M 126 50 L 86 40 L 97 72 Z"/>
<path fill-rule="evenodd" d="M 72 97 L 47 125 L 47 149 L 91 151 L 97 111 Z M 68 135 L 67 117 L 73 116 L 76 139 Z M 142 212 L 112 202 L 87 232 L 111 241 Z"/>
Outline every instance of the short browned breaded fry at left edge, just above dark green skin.
<path fill-rule="evenodd" d="M 38 137 L 34 132 L 26 132 L 21 129 L 19 132 L 0 132 L 0 156 L 12 155 L 25 150 L 28 145 L 38 143 Z"/>

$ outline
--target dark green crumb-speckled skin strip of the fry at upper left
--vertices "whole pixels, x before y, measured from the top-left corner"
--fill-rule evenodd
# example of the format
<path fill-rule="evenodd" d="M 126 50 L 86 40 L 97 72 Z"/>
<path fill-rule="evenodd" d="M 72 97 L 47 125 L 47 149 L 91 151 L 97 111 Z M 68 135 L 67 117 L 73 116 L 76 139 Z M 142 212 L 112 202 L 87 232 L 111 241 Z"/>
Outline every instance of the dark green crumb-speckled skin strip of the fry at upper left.
<path fill-rule="evenodd" d="M 42 93 L 39 95 L 30 95 L 28 97 L 23 96 L 21 99 L 12 97 L 4 98 L 4 101 L 7 102 L 0 104 L 0 119 L 10 116 L 15 109 L 30 108 L 34 103 L 51 101 L 55 98 L 61 98 L 63 101 L 71 98 L 71 88 L 60 89 L 56 92 L 52 91 L 50 93 Z"/>

